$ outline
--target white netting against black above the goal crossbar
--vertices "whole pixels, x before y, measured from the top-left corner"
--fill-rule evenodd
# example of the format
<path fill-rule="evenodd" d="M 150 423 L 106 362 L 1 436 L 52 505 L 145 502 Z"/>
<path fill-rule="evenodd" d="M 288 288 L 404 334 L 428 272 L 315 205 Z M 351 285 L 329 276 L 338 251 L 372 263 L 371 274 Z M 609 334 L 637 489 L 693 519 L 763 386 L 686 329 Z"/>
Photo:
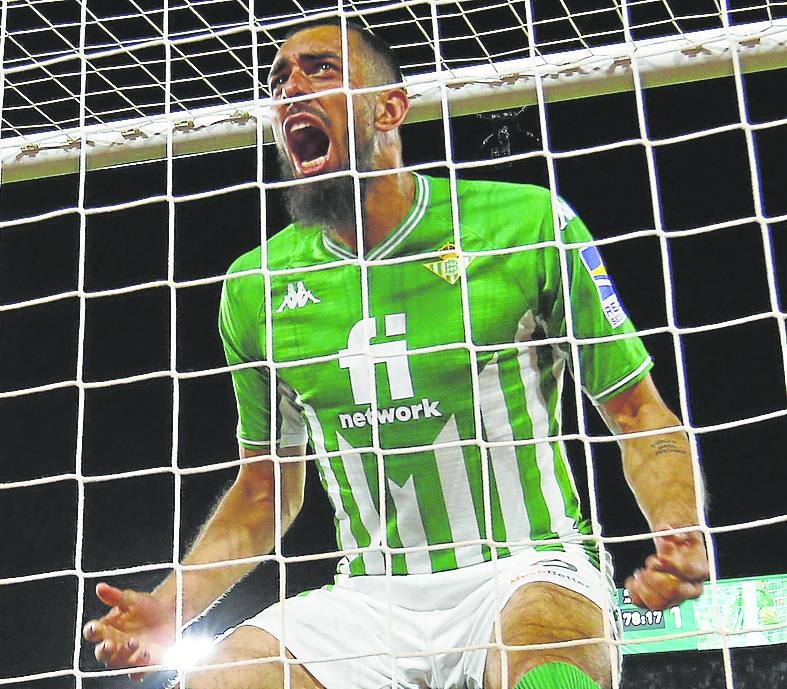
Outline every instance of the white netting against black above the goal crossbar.
<path fill-rule="evenodd" d="M 336 12 L 335 3 L 266 3 L 255 7 L 252 42 L 249 6 L 233 0 L 169 3 L 166 43 L 172 50 L 171 80 L 165 85 L 165 10 L 160 2 L 88 3 L 84 52 L 87 60 L 85 124 L 151 118 L 174 112 L 246 102 L 253 96 L 252 47 L 260 65 L 270 66 L 276 50 L 273 32 L 305 16 Z M 681 37 L 701 29 L 721 29 L 717 2 L 694 3 L 688 11 L 661 0 L 628 4 L 624 28 L 620 3 L 552 2 L 533 7 L 530 29 L 523 2 L 438 2 L 440 69 L 487 65 L 502 60 L 583 49 L 633 40 Z M 426 2 L 347 3 L 345 11 L 388 40 L 401 55 L 408 75 L 435 68 L 431 6 Z M 702 7 L 701 7 L 702 6 Z M 783 3 L 752 3 L 732 9 L 731 24 L 771 22 Z M 6 3 L 6 95 L 3 136 L 27 136 L 80 123 L 79 3 L 65 0 Z M 531 35 L 532 34 L 532 35 Z M 165 95 L 169 98 L 165 99 Z M 269 95 L 263 89 L 262 95 Z"/>

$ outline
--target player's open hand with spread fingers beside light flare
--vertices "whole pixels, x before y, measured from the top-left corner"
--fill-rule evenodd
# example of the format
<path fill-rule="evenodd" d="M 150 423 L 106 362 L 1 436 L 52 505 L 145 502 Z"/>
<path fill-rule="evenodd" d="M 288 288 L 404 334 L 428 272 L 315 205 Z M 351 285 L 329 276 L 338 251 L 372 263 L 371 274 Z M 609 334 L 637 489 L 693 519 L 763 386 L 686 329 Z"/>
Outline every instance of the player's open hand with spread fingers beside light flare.
<path fill-rule="evenodd" d="M 175 636 L 172 611 L 149 593 L 121 590 L 100 583 L 96 595 L 111 610 L 90 620 L 85 639 L 96 644 L 96 660 L 109 668 L 135 668 L 161 663 Z M 133 673 L 141 680 L 145 673 Z"/>

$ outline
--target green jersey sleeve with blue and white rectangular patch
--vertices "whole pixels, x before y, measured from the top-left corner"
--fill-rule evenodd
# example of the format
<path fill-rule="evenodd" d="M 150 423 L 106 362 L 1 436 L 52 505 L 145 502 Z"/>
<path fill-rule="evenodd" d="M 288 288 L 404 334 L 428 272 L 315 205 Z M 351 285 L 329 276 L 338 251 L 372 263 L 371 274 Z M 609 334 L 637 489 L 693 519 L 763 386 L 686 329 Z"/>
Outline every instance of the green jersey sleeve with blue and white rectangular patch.
<path fill-rule="evenodd" d="M 601 253 L 591 244 L 593 238 L 587 227 L 565 201 L 560 199 L 558 205 L 559 240 L 569 245 L 565 253 L 572 332 L 576 339 L 584 340 L 578 345 L 580 381 L 593 403 L 600 404 L 642 380 L 653 367 L 653 360 L 623 308 Z M 551 217 L 547 222 L 552 223 Z M 553 234 L 554 230 L 549 228 L 549 232 Z M 562 295 L 557 253 L 554 259 L 546 269 L 547 280 L 552 283 L 552 293 Z M 555 284 L 557 280 L 560 285 Z M 560 296 L 552 305 L 550 322 L 550 335 L 568 333 L 566 308 Z M 600 339 L 616 335 L 622 337 Z M 569 342 L 561 349 L 570 355 Z"/>

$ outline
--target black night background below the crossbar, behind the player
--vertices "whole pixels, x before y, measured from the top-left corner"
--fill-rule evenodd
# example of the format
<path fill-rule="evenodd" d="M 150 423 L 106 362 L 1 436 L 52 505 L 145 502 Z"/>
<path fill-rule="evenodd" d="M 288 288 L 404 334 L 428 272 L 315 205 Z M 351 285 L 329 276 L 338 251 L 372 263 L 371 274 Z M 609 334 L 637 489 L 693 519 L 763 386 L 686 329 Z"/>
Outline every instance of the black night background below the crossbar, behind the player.
<path fill-rule="evenodd" d="M 786 70 L 747 75 L 743 82 L 750 123 L 787 118 Z M 741 122 L 731 78 L 651 90 L 644 99 L 644 124 L 651 141 Z M 654 377 L 668 404 L 679 411 L 677 371 L 682 367 L 690 409 L 686 420 L 694 427 L 784 411 L 785 345 L 783 340 L 780 343 L 777 319 L 784 319 L 787 298 L 787 175 L 783 162 L 787 159 L 787 124 L 752 133 L 761 176 L 761 222 L 755 220 L 753 190 L 758 189 L 751 177 L 742 128 L 655 146 L 656 191 L 665 230 L 662 241 L 654 236 L 627 237 L 657 223 L 647 149 L 635 141 L 640 138 L 640 125 L 634 94 L 550 104 L 546 115 L 548 150 L 553 154 L 632 141 L 615 150 L 557 157 L 552 162 L 559 193 L 583 217 L 594 236 L 617 238 L 602 251 L 639 328 L 658 330 L 668 325 L 670 300 L 665 293 L 664 265 L 673 289 L 678 329 L 763 314 L 747 324 L 702 332 L 663 330 L 646 336 L 646 345 L 656 360 Z M 535 154 L 507 162 L 493 159 L 479 167 L 462 166 L 489 158 L 503 126 L 511 134 L 512 154 Z M 460 164 L 461 177 L 548 185 L 550 161 L 538 153 L 545 147 L 542 138 L 535 108 L 497 118 L 454 118 L 450 156 Z M 434 163 L 430 174 L 446 175 L 443 142 L 441 123 L 411 125 L 404 132 L 405 159 Z M 277 176 L 272 159 L 272 149 L 264 147 L 266 179 Z M 173 163 L 174 195 L 253 181 L 255 168 L 253 149 L 178 159 Z M 164 194 L 166 176 L 162 162 L 89 172 L 85 206 L 96 208 Z M 74 209 L 78 193 L 76 175 L 7 184 L 0 187 L 0 218 Z M 163 373 L 144 381 L 86 389 L 81 428 L 79 394 L 74 385 L 0 398 L 0 482 L 72 474 L 77 471 L 77 461 L 86 477 L 106 477 L 86 482 L 83 497 L 73 478 L 0 491 L 0 579 L 73 570 L 75 562 L 86 575 L 84 612 L 79 621 L 77 599 L 83 591 L 74 575 L 0 585 L 5 622 L 0 627 L 0 677 L 72 667 L 77 624 L 81 626 L 102 612 L 92 595 L 94 583 L 105 579 L 119 586 L 149 589 L 169 570 L 162 567 L 100 577 L 95 573 L 171 562 L 173 544 L 177 541 L 178 552 L 183 552 L 232 481 L 233 469 L 184 475 L 180 482 L 181 518 L 173 525 L 176 484 L 167 470 L 173 458 L 181 469 L 209 467 L 235 458 L 237 449 L 229 376 L 205 374 L 175 383 L 168 371 L 205 371 L 224 365 L 215 327 L 221 283 L 183 283 L 223 274 L 237 255 L 259 243 L 263 225 L 268 235 L 284 225 L 277 193 L 267 190 L 265 201 L 264 223 L 260 221 L 258 190 L 177 201 L 172 206 L 171 247 L 177 287 L 163 285 L 105 296 L 91 293 L 167 279 L 172 208 L 162 200 L 132 210 L 87 216 L 83 239 L 88 297 L 82 302 L 84 380 Z M 711 232 L 682 233 L 721 222 L 729 224 Z M 74 211 L 0 231 L 0 303 L 75 291 L 80 243 L 80 216 Z M 775 264 L 768 265 L 767 244 Z M 775 281 L 776 304 L 769 291 L 769 271 Z M 80 308 L 80 299 L 70 296 L 0 311 L 0 391 L 76 378 Z M 681 354 L 678 361 L 676 351 Z M 573 386 L 566 387 L 565 430 L 573 432 Z M 603 424 L 590 406 L 583 404 L 590 433 L 602 435 Z M 786 426 L 785 417 L 780 416 L 697 435 L 708 487 L 710 526 L 743 524 L 785 513 Z M 579 441 L 568 445 L 587 505 L 588 467 L 583 446 Z M 604 535 L 645 531 L 645 522 L 623 480 L 616 448 L 610 443 L 594 443 L 592 456 L 590 469 L 595 475 Z M 111 477 L 148 469 L 161 471 Z M 84 529 L 77 543 L 80 507 Z M 715 535 L 719 577 L 787 572 L 785 536 L 783 521 Z M 618 585 L 647 556 L 650 547 L 648 541 L 611 546 Z M 301 555 L 334 549 L 330 511 L 310 467 L 306 507 L 285 538 L 283 552 Z M 282 574 L 287 591 L 294 593 L 328 581 L 334 564 L 334 558 L 264 564 L 199 623 L 200 628 L 217 633 L 271 603 L 277 598 Z M 733 651 L 735 686 L 787 682 L 784 655 L 783 647 Z M 92 649 L 82 648 L 79 657 L 81 669 L 97 669 Z M 624 684 L 632 688 L 715 689 L 725 686 L 720 663 L 720 652 L 629 657 Z M 157 681 L 160 678 L 149 680 L 151 686 Z M 86 687 L 125 684 L 124 678 L 84 681 Z M 19 686 L 59 689 L 74 686 L 74 679 L 64 676 Z"/>

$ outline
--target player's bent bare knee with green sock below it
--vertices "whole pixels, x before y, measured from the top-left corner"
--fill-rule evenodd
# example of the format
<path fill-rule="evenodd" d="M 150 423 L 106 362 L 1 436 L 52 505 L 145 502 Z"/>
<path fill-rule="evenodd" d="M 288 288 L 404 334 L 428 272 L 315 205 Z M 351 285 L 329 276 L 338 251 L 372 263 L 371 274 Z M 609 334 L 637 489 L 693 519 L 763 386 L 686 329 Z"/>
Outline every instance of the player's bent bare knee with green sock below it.
<path fill-rule="evenodd" d="M 507 646 L 604 638 L 603 614 L 595 603 L 547 582 L 533 582 L 517 589 L 500 613 L 500 624 L 501 638 Z M 541 686 L 611 689 L 612 686 L 610 652 L 603 642 L 508 651 L 506 655 L 507 677 L 503 676 L 500 651 L 494 649 L 487 655 L 484 689 Z M 529 680 L 522 680 L 536 667 L 540 669 Z"/>

